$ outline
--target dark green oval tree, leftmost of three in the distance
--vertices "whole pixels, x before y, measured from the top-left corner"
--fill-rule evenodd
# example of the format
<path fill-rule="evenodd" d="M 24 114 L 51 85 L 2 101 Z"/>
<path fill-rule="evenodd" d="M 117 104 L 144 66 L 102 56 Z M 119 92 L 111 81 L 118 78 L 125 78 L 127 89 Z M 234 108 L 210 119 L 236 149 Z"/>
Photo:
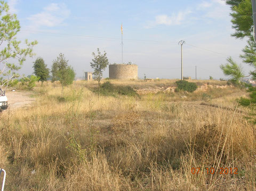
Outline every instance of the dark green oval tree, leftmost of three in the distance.
<path fill-rule="evenodd" d="M 34 68 L 34 74 L 39 78 L 39 81 L 41 81 L 41 86 L 42 86 L 43 82 L 47 80 L 50 73 L 42 57 L 38 57 L 36 59 L 36 61 L 34 62 L 33 68 Z"/>

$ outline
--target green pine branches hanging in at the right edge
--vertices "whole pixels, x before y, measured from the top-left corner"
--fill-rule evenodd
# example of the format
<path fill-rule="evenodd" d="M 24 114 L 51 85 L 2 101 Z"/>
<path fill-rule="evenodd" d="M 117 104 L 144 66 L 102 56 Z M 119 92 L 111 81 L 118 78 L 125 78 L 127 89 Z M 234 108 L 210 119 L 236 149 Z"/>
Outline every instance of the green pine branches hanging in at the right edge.
<path fill-rule="evenodd" d="M 235 38 L 244 37 L 249 38 L 247 40 L 247 45 L 242 50 L 243 54 L 240 57 L 243 59 L 243 62 L 254 67 L 254 71 L 251 71 L 249 76 L 253 78 L 256 77 L 256 47 L 255 42 L 253 40 L 253 16 L 252 16 L 252 5 L 251 0 L 227 0 L 226 3 L 231 7 L 231 17 L 232 17 L 232 27 L 235 29 L 234 36 Z M 227 59 L 227 64 L 220 65 L 223 73 L 231 77 L 231 81 L 233 84 L 239 84 L 239 80 L 244 76 L 241 65 L 235 63 L 231 57 Z"/>

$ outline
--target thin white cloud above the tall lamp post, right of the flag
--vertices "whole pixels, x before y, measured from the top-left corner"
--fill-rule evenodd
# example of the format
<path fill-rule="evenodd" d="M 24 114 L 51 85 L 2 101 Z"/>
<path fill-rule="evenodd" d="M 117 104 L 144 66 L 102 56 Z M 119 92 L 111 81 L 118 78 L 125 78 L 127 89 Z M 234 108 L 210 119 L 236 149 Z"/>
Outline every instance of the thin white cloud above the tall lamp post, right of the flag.
<path fill-rule="evenodd" d="M 155 21 L 148 21 L 145 28 L 153 28 L 159 24 L 163 24 L 166 26 L 176 26 L 180 25 L 183 20 L 185 20 L 185 17 L 187 14 L 191 13 L 191 11 L 185 11 L 185 12 L 178 12 L 173 13 L 171 16 L 168 16 L 166 14 L 157 15 L 155 17 Z"/>

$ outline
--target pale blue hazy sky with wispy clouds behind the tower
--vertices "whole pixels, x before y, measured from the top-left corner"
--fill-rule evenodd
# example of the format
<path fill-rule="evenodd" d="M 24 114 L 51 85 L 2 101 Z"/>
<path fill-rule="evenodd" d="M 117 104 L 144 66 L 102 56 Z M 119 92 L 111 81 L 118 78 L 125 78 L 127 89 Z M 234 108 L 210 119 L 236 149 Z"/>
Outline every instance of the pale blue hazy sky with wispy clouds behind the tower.
<path fill-rule="evenodd" d="M 230 7 L 223 0 L 140 0 L 140 1 L 50 1 L 9 0 L 10 12 L 17 14 L 21 41 L 37 40 L 36 56 L 22 65 L 21 74 L 33 73 L 33 62 L 42 57 L 51 68 L 63 53 L 77 77 L 90 67 L 92 52 L 106 51 L 110 64 L 122 62 L 121 24 L 123 25 L 123 62 L 138 65 L 138 77 L 181 77 L 195 79 L 226 78 L 220 70 L 231 56 L 247 74 L 252 68 L 239 55 L 246 39 L 230 34 Z M 108 77 L 108 68 L 103 72 Z"/>

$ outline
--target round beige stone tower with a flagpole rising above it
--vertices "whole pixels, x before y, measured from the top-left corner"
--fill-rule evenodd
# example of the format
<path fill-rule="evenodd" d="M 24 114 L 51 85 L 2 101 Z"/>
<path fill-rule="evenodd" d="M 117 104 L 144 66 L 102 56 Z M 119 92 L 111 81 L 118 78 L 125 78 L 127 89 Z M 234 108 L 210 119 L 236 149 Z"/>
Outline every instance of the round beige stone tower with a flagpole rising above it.
<path fill-rule="evenodd" d="M 110 64 L 109 79 L 118 79 L 118 80 L 138 79 L 138 65 Z"/>

